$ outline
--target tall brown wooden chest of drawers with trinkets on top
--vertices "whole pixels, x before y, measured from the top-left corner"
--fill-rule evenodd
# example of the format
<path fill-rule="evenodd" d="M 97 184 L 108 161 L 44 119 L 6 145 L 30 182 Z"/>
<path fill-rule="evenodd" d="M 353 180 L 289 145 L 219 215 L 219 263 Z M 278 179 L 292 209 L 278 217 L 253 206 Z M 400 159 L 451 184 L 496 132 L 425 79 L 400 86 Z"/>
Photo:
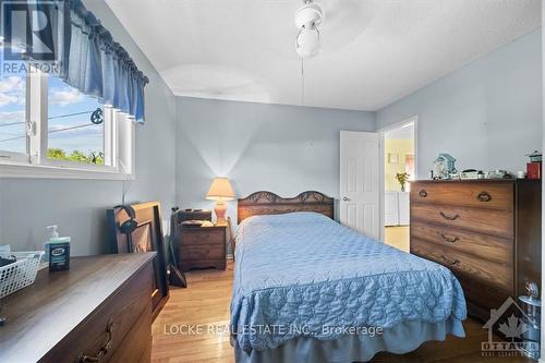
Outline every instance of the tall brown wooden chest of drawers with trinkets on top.
<path fill-rule="evenodd" d="M 541 289 L 540 181 L 411 183 L 411 253 L 449 267 L 470 315 L 488 319 L 508 297 Z"/>

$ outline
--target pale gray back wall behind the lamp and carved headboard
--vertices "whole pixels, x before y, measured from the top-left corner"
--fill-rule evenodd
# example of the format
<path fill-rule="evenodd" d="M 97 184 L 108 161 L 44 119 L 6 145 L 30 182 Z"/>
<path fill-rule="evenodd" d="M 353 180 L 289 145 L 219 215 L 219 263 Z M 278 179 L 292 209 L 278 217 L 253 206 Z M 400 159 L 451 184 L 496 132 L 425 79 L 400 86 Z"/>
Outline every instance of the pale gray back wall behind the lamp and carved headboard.
<path fill-rule="evenodd" d="M 339 131 L 374 131 L 374 112 L 178 97 L 178 203 L 211 208 L 214 177 L 258 190 L 339 193 Z M 234 203 L 229 214 L 234 217 Z"/>

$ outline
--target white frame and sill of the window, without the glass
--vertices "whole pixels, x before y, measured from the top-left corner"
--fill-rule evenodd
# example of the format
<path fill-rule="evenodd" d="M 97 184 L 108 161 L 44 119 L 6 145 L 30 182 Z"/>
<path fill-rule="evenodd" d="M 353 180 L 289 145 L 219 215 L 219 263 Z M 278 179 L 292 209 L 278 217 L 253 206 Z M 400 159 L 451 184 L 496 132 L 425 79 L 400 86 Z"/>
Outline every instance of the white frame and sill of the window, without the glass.
<path fill-rule="evenodd" d="M 0 178 L 59 178 L 134 180 L 135 122 L 118 110 L 104 107 L 105 165 L 47 157 L 48 74 L 33 70 L 26 75 L 26 154 L 0 149 Z M 119 153 L 119 145 L 130 150 Z"/>

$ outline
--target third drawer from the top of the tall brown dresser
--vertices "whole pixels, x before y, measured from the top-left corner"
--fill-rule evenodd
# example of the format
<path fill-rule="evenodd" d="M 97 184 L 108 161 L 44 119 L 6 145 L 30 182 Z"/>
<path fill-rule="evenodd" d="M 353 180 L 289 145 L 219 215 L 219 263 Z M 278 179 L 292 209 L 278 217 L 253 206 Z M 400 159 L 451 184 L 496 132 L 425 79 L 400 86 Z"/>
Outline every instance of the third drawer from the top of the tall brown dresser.
<path fill-rule="evenodd" d="M 411 225 L 412 239 L 427 241 L 511 267 L 513 264 L 513 240 L 509 239 L 422 222 Z"/>

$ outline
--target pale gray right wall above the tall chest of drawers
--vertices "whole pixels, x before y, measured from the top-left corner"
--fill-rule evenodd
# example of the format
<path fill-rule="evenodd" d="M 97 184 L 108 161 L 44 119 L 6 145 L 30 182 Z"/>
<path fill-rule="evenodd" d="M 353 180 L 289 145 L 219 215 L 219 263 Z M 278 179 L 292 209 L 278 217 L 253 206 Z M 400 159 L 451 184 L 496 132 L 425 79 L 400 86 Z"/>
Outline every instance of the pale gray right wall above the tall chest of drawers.
<path fill-rule="evenodd" d="M 459 170 L 525 170 L 525 154 L 542 149 L 541 29 L 379 110 L 377 126 L 419 116 L 417 173 L 437 154 Z"/>

